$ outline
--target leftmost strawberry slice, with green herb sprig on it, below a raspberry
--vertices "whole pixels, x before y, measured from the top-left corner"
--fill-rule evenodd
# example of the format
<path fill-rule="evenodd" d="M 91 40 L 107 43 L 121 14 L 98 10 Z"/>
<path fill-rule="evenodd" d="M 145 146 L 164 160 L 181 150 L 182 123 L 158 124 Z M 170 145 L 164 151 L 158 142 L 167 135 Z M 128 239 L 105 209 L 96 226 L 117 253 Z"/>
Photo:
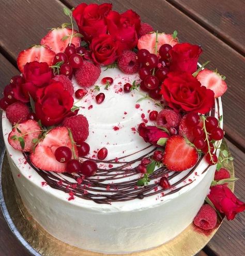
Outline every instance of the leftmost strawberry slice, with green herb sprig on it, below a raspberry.
<path fill-rule="evenodd" d="M 27 120 L 13 127 L 8 135 L 8 143 L 20 151 L 32 152 L 35 143 L 33 139 L 38 139 L 41 128 L 36 121 Z"/>

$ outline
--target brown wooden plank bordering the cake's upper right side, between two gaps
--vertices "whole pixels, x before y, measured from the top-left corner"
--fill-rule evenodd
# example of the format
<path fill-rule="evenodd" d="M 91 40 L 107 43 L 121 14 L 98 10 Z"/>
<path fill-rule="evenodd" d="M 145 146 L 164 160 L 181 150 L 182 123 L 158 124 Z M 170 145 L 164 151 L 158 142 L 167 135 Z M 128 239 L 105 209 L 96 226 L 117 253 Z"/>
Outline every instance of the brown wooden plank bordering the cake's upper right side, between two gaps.
<path fill-rule="evenodd" d="M 93 0 L 86 3 L 93 3 Z M 244 58 L 235 50 L 227 46 L 220 39 L 206 31 L 205 28 L 195 23 L 171 4 L 155 0 L 154 5 L 146 1 L 108 1 L 99 0 L 98 3 L 112 2 L 114 10 L 119 12 L 133 9 L 140 14 L 142 21 L 148 22 L 155 29 L 166 33 L 173 33 L 176 29 L 181 41 L 202 44 L 203 54 L 200 61 L 210 60 L 210 69 L 216 69 L 225 74 L 228 91 L 222 97 L 224 109 L 224 123 L 229 138 L 238 145 L 245 145 L 245 106 L 244 106 Z M 81 3 L 80 0 L 65 0 L 69 7 Z"/>

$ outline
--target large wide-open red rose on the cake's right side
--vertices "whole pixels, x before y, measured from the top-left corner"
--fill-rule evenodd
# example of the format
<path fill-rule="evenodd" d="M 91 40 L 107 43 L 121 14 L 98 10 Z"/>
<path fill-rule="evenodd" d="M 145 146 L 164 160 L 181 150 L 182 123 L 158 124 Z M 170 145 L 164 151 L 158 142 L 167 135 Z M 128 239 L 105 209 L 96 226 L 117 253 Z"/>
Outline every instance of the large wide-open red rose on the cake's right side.
<path fill-rule="evenodd" d="M 161 86 L 163 98 L 175 111 L 205 114 L 215 104 L 215 94 L 187 72 L 170 72 Z"/>

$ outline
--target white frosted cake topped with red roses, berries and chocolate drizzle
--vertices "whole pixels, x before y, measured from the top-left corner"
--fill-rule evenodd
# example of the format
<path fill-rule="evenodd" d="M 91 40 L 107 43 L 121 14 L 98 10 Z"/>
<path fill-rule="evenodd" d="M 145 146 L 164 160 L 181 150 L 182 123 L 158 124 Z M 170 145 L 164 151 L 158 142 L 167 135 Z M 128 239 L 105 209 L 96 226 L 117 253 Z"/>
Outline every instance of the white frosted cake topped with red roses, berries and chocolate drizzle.
<path fill-rule="evenodd" d="M 84 21 L 88 8 L 100 23 Z M 131 253 L 175 238 L 204 204 L 220 163 L 226 84 L 197 69 L 200 47 L 111 8 L 81 4 L 79 32 L 63 24 L 19 54 L 2 122 L 14 183 L 42 228 L 89 251 Z M 236 204 L 227 218 L 244 210 Z"/>

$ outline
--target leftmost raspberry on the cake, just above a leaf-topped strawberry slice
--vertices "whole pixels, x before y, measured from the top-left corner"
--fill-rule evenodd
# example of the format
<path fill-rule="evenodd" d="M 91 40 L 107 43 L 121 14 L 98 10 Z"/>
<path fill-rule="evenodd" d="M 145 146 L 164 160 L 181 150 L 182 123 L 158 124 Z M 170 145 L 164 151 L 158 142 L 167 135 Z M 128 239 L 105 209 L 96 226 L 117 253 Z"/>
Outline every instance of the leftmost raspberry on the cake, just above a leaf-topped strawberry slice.
<path fill-rule="evenodd" d="M 12 125 L 21 123 L 28 119 L 30 111 L 26 104 L 22 102 L 15 102 L 6 109 L 6 116 Z"/>

